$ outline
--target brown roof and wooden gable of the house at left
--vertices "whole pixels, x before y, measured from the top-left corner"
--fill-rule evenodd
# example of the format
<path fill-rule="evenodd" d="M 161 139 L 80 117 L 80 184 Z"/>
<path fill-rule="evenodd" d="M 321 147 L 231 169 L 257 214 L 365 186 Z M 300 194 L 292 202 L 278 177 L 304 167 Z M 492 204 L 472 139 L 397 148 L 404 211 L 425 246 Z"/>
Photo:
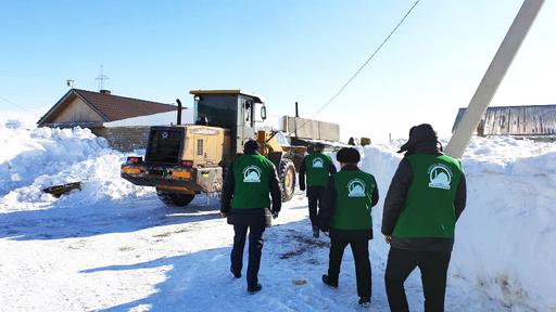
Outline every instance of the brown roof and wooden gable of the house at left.
<path fill-rule="evenodd" d="M 37 122 L 39 127 L 98 128 L 103 122 L 177 110 L 176 105 L 71 89 Z"/>

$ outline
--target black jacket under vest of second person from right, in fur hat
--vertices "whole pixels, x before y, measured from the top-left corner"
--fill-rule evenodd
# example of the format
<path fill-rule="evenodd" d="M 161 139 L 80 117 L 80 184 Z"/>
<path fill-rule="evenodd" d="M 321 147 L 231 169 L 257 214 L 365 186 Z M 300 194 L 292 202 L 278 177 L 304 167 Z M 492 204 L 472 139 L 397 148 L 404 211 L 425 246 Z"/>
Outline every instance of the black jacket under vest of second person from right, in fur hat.
<path fill-rule="evenodd" d="M 344 166 L 340 171 L 359 170 L 355 165 Z M 375 207 L 378 203 L 378 185 L 372 190 L 372 202 L 371 207 Z M 325 195 L 323 198 L 323 206 L 318 211 L 318 226 L 323 232 L 330 231 L 330 237 L 340 240 L 357 240 L 357 239 L 371 239 L 372 227 L 370 230 L 334 230 L 330 229 L 330 220 L 334 214 L 336 210 L 336 186 L 334 177 L 330 177 L 328 184 L 325 188 Z"/>

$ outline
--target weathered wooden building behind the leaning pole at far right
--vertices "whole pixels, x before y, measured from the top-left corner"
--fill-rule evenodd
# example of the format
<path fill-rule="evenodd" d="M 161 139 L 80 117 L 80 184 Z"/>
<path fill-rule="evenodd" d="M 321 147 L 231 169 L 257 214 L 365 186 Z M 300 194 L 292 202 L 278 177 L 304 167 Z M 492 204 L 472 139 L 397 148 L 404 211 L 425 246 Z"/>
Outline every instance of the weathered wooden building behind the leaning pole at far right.
<path fill-rule="evenodd" d="M 459 108 L 454 127 L 464 117 Z M 478 135 L 556 135 L 556 105 L 496 106 L 486 108 L 476 134 Z"/>

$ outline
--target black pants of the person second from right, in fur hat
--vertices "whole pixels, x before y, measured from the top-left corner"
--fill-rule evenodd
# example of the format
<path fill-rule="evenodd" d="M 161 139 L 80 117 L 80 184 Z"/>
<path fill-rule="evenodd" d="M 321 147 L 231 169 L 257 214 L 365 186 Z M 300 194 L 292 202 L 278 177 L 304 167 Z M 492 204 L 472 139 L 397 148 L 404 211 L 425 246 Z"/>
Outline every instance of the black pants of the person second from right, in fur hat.
<path fill-rule="evenodd" d="M 353 259 L 355 260 L 355 277 L 357 278 L 357 295 L 370 298 L 370 261 L 368 239 L 345 240 L 330 238 L 330 263 L 328 265 L 328 278 L 338 282 L 340 264 L 342 263 L 343 250 L 348 244 L 352 247 Z"/>

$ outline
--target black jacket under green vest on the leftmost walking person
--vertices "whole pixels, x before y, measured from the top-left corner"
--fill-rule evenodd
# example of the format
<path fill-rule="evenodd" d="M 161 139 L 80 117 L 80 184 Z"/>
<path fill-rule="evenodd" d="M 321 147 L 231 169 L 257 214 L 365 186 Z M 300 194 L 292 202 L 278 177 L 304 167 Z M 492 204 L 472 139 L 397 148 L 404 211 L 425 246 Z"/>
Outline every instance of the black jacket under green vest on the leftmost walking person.
<path fill-rule="evenodd" d="M 255 154 L 255 153 L 245 153 Z M 251 208 L 251 209 L 232 209 L 231 208 L 231 199 L 233 197 L 233 188 L 236 186 L 236 181 L 233 178 L 233 165 L 228 167 L 228 172 L 226 178 L 224 179 L 224 185 L 222 190 L 222 200 L 220 200 L 220 212 L 224 212 L 228 217 L 228 224 L 236 225 L 260 225 L 266 224 L 270 226 L 273 223 L 273 212 L 279 212 L 282 206 L 280 183 L 278 181 L 278 176 L 276 173 L 276 168 L 273 166 L 274 170 L 270 172 L 269 179 L 269 188 L 270 188 L 270 197 L 271 197 L 271 210 L 268 209 L 270 207 L 261 207 L 261 208 Z"/>

